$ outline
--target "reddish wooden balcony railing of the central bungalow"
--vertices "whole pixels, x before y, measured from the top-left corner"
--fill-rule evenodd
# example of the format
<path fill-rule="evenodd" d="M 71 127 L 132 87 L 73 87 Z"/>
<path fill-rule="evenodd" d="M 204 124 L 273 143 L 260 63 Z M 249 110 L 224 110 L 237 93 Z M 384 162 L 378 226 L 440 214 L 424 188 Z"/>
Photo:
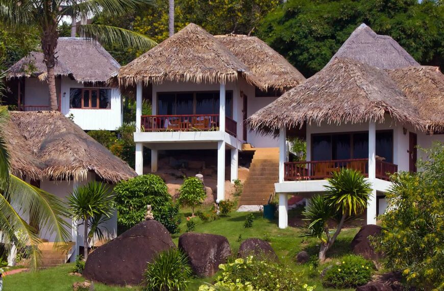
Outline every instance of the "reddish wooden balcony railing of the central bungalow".
<path fill-rule="evenodd" d="M 218 131 L 219 114 L 142 115 L 141 127 L 145 132 Z M 225 131 L 237 136 L 237 123 L 230 117 L 225 117 Z"/>

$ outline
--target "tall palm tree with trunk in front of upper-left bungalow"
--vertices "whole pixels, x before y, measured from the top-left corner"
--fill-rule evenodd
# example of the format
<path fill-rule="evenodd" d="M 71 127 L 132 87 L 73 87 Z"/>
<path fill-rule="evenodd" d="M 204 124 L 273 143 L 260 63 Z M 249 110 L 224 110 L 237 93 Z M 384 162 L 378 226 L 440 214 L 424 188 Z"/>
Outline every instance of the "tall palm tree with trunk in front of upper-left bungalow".
<path fill-rule="evenodd" d="M 0 0 L 0 20 L 12 28 L 36 26 L 40 29 L 41 48 L 46 65 L 51 110 L 57 110 L 54 67 L 57 63 L 58 26 L 63 16 L 80 19 L 88 15 L 115 16 L 151 4 L 151 0 Z M 156 43 L 141 34 L 106 26 L 81 25 L 81 35 L 101 43 L 119 43 L 145 49 Z"/>

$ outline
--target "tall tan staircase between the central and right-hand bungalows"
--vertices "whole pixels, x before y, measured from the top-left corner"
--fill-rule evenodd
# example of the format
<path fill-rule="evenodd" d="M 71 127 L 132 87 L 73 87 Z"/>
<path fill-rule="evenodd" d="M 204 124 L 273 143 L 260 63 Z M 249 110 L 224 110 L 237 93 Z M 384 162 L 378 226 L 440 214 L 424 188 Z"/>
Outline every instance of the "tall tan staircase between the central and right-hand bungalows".
<path fill-rule="evenodd" d="M 279 181 L 279 148 L 253 148 L 250 173 L 243 184 L 239 205 L 264 205 Z M 252 149 L 252 150 L 253 150 Z"/>

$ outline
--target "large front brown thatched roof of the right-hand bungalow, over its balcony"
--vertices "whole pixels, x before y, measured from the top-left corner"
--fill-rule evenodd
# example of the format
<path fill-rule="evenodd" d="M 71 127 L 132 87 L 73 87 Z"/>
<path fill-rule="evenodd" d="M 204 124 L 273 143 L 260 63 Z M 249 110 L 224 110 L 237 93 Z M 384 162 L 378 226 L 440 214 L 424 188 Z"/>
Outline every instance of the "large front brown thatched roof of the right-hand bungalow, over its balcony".
<path fill-rule="evenodd" d="M 418 110 L 384 70 L 338 58 L 250 116 L 248 123 L 253 130 L 276 134 L 280 127 L 301 127 L 305 122 L 382 123 L 386 113 L 424 129 Z"/>

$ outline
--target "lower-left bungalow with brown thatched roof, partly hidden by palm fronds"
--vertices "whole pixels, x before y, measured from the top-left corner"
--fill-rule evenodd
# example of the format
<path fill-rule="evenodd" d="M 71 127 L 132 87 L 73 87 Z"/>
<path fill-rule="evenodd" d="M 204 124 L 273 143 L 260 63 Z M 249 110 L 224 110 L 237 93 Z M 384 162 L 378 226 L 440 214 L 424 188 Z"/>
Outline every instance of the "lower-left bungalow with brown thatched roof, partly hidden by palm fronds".
<path fill-rule="evenodd" d="M 11 173 L 65 202 L 73 190 L 90 181 L 103 181 L 113 187 L 120 180 L 136 176 L 126 162 L 58 111 L 10 111 L 10 115 L 5 136 Z M 22 217 L 29 216 L 22 213 Z M 77 228 L 78 222 L 66 220 L 73 226 L 71 241 L 66 248 L 54 249 L 55 235 L 45 229 L 39 230 L 42 266 L 65 263 L 68 259 L 72 261 L 79 249 L 85 247 L 83 225 Z M 115 238 L 117 214 L 114 213 L 102 227 L 106 238 Z M 9 260 L 13 264 L 14 256 Z"/>

